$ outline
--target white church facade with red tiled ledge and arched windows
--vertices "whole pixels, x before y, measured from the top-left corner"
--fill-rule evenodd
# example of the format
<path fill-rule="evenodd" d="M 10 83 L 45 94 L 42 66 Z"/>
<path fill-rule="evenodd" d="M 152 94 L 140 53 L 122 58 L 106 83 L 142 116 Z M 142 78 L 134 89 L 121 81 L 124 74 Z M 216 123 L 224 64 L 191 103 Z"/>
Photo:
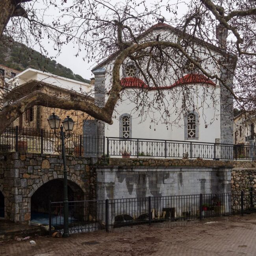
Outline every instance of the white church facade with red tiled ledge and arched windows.
<path fill-rule="evenodd" d="M 165 23 L 158 23 L 149 30 L 149 33 L 168 32 L 175 35 L 174 30 L 173 27 Z M 208 50 L 210 48 L 211 51 L 209 55 L 220 56 L 223 52 L 223 49 L 217 46 L 209 46 Z M 95 75 L 95 104 L 98 106 L 103 106 L 107 100 L 108 91 L 111 88 L 111 63 L 114 59 L 114 57 L 110 57 L 92 69 Z M 208 65 L 207 69 L 211 74 L 221 75 L 232 87 L 232 77 L 226 74 L 228 72 L 226 69 L 213 65 Z M 124 89 L 121 99 L 115 107 L 113 124 L 108 125 L 98 121 L 97 128 L 94 129 L 89 123 L 92 121 L 89 121 L 85 124 L 83 132 L 98 137 L 116 137 L 123 140 L 153 139 L 233 144 L 233 99 L 230 97 L 230 93 L 218 80 L 210 80 L 197 70 L 186 71 L 182 77 L 176 78 L 176 80 L 170 78 L 169 84 L 166 83 L 156 88 L 153 85 L 147 85 L 138 75 L 139 71 L 135 63 L 127 59 L 120 70 L 121 85 L 124 86 Z M 191 91 L 190 102 L 186 102 L 187 99 L 184 100 L 182 95 L 184 86 Z M 157 111 L 148 111 L 150 103 L 147 105 L 147 109 L 145 109 L 146 106 L 138 103 L 138 95 L 145 93 L 148 102 L 151 101 L 152 105 L 156 104 L 154 98 L 158 89 L 161 90 L 161 95 L 165 98 L 163 103 L 169 106 L 167 121 L 163 118 L 163 113 L 158 106 L 152 106 L 152 109 L 158 109 Z M 182 107 L 182 104 L 190 106 L 185 113 L 176 111 L 179 106 Z M 134 146 L 131 145 L 131 147 Z M 126 151 L 123 142 L 119 147 L 120 150 Z M 141 149 L 141 151 L 145 152 L 145 149 Z"/>

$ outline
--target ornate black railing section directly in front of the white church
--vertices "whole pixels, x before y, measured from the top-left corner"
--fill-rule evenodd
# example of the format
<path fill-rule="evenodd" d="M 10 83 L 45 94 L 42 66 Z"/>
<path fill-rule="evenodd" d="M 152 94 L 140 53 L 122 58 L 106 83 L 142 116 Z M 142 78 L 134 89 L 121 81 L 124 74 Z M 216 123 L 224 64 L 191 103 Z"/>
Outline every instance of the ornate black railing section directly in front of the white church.
<path fill-rule="evenodd" d="M 106 144 L 108 156 L 214 160 L 255 160 L 256 156 L 256 147 L 250 145 L 118 137 L 106 137 Z"/>

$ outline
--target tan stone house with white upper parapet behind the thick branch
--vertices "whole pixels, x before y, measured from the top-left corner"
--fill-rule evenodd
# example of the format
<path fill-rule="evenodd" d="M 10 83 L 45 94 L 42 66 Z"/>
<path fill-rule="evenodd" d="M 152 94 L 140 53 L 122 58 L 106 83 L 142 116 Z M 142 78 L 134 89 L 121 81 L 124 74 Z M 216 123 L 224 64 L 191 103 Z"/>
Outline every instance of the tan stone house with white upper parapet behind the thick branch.
<path fill-rule="evenodd" d="M 89 96 L 93 87 L 92 85 L 35 69 L 24 70 L 15 78 L 10 79 L 8 83 L 13 88 L 9 97 L 20 95 L 20 93 L 26 95 L 32 91 L 40 90 L 58 97 L 79 97 L 94 102 L 94 99 Z M 67 115 L 72 117 L 75 121 L 73 131 L 76 134 L 82 134 L 83 121 L 91 119 L 91 117 L 82 111 L 33 106 L 13 122 L 13 127 L 19 126 L 35 130 L 50 130 L 47 119 L 52 113 L 56 113 L 61 120 L 65 119 Z"/>

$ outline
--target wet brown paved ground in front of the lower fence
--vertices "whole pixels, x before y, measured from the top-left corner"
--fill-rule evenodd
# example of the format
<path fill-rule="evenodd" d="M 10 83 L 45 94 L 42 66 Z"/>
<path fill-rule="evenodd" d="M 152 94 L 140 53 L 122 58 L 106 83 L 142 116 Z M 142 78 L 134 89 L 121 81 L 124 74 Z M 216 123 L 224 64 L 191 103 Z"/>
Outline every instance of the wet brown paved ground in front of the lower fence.
<path fill-rule="evenodd" d="M 210 222 L 210 223 L 207 223 Z M 177 225 L 178 224 L 178 225 Z M 0 255 L 256 255 L 256 214 L 0 243 Z"/>

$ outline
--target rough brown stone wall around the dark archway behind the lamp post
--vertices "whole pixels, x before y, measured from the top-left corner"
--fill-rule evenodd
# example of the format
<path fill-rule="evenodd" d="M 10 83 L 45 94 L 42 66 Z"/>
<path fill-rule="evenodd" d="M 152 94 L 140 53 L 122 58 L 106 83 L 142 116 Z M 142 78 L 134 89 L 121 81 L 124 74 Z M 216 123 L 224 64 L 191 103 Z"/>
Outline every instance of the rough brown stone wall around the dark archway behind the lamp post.
<path fill-rule="evenodd" d="M 31 197 L 43 186 L 63 179 L 62 157 L 46 154 L 0 154 L 0 191 L 5 197 L 5 218 L 15 222 L 30 221 Z M 68 185 L 79 187 L 81 200 L 96 199 L 96 173 L 90 158 L 67 156 Z"/>

